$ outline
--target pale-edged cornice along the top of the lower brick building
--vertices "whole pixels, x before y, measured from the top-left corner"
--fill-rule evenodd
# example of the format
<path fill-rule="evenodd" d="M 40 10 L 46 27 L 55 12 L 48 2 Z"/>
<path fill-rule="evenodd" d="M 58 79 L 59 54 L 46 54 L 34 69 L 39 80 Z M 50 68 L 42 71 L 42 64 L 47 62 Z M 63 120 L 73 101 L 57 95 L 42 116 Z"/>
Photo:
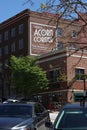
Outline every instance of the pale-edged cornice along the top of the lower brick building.
<path fill-rule="evenodd" d="M 56 51 L 53 51 L 53 52 L 50 52 L 50 53 L 46 53 L 46 54 L 42 54 L 38 57 L 38 63 L 43 63 L 43 62 L 48 62 L 48 61 L 51 61 L 51 60 L 56 60 L 56 59 L 59 59 L 59 58 L 63 58 L 63 57 L 74 57 L 74 58 L 84 58 L 84 59 L 87 59 L 87 52 L 84 52 L 84 54 L 86 55 L 81 55 L 81 51 L 78 51 L 79 53 L 76 53 L 75 54 L 71 53 L 70 52 L 73 52 L 73 50 L 69 50 L 68 48 L 63 48 L 63 49 L 60 49 L 60 50 L 56 50 Z"/>

